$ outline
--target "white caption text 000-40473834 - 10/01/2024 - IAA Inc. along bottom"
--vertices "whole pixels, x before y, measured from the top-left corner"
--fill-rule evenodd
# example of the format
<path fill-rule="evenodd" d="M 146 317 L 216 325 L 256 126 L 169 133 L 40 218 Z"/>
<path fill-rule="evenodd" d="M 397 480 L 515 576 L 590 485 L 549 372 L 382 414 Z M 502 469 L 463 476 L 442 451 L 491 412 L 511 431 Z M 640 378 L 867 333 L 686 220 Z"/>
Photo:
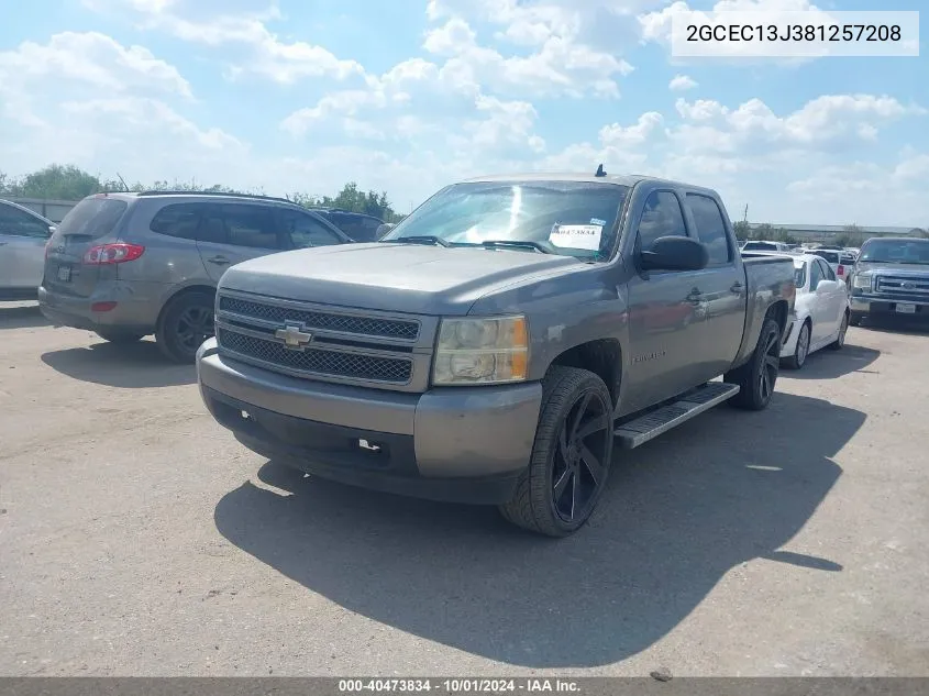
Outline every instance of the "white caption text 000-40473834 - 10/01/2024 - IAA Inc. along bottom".
<path fill-rule="evenodd" d="M 440 694 L 506 694 L 506 693 L 579 693 L 577 682 L 571 680 L 488 680 L 488 678 L 355 678 L 339 680 L 339 692 L 352 693 L 430 693 Z"/>

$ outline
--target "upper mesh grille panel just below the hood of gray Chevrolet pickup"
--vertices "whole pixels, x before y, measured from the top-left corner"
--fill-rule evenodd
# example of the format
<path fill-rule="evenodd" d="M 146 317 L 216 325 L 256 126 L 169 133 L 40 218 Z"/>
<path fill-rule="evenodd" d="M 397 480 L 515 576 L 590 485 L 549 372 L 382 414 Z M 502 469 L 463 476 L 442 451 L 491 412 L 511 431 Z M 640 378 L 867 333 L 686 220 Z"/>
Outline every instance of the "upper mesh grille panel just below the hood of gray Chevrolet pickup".
<path fill-rule="evenodd" d="M 287 320 L 300 322 L 310 330 L 324 329 L 341 333 L 381 336 L 386 339 L 406 339 L 409 341 L 414 341 L 419 335 L 419 323 L 414 321 L 289 309 L 277 305 L 253 302 L 237 297 L 221 298 L 220 310 L 243 317 L 264 319 L 265 321 L 283 323 Z"/>

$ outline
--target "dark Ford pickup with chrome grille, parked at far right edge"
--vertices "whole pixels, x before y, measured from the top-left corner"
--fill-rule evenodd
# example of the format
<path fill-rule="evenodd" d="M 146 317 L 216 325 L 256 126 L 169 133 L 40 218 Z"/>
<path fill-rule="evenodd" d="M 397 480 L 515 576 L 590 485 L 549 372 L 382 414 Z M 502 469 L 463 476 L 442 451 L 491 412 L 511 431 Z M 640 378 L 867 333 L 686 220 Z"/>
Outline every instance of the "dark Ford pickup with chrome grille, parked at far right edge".
<path fill-rule="evenodd" d="M 849 322 L 854 327 L 874 314 L 929 319 L 929 240 L 867 240 L 849 275 Z"/>

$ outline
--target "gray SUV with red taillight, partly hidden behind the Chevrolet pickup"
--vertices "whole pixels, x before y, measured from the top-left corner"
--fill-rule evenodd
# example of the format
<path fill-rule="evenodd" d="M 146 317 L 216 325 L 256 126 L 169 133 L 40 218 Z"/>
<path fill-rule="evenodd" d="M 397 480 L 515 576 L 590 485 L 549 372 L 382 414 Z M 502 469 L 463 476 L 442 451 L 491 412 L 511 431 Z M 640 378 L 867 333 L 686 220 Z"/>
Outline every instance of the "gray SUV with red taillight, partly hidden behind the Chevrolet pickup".
<path fill-rule="evenodd" d="M 42 313 L 117 343 L 155 334 L 170 360 L 193 362 L 213 335 L 217 283 L 248 258 L 352 240 L 320 216 L 264 196 L 95 194 L 45 247 Z"/>

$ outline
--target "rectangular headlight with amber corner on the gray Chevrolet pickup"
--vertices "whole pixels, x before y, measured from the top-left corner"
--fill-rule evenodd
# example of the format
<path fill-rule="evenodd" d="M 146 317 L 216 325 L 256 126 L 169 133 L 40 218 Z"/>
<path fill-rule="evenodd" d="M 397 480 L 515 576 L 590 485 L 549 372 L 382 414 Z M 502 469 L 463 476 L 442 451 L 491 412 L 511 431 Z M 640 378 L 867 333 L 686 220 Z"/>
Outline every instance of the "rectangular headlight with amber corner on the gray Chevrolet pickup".
<path fill-rule="evenodd" d="M 528 368 L 526 317 L 442 320 L 432 384 L 522 382 Z"/>

